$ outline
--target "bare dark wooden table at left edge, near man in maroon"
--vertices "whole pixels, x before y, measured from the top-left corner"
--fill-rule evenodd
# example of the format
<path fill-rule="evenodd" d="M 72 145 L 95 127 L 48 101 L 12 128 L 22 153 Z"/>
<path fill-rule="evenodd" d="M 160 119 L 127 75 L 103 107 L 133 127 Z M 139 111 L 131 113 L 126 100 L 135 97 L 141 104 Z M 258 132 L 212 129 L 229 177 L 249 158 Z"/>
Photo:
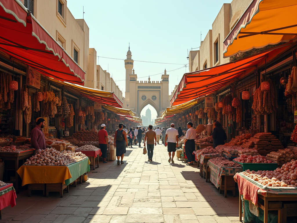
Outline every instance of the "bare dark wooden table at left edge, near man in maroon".
<path fill-rule="evenodd" d="M 17 170 L 19 169 L 19 161 L 24 160 L 27 158 L 30 158 L 33 155 L 35 149 L 31 150 L 25 150 L 25 151 L 20 151 L 20 152 L 0 152 L 0 157 L 4 161 L 12 160 L 15 161 L 15 169 L 4 169 L 6 170 L 6 177 L 7 177 L 7 171 L 14 171 L 15 172 L 15 191 L 18 194 L 19 193 L 19 182 L 18 182 L 18 174 Z M 23 161 L 24 163 L 24 161 Z M 8 165 L 6 165 L 8 166 Z M 4 166 L 5 168 L 5 166 Z"/>

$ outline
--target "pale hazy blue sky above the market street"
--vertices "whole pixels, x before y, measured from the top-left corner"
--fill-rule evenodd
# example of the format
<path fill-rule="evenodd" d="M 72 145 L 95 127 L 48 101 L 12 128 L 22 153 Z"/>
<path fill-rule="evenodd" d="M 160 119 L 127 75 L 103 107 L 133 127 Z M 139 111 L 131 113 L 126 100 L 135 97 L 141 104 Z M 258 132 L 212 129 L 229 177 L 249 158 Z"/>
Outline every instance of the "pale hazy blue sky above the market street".
<path fill-rule="evenodd" d="M 67 7 L 76 19 L 89 26 L 89 47 L 95 48 L 97 65 L 108 70 L 125 92 L 124 59 L 128 51 L 134 62 L 138 81 L 160 81 L 165 68 L 169 74 L 169 94 L 184 73 L 189 72 L 187 59 L 191 48 L 200 46 L 223 3 L 230 0 L 183 1 L 112 1 L 68 0 Z M 197 50 L 197 49 L 195 49 Z M 122 60 L 119 60 L 122 59 Z M 173 64 L 161 64 L 173 63 Z M 174 71 L 170 71 L 174 70 Z M 152 106 L 151 106 L 152 107 Z M 145 110 L 143 112 L 145 113 Z M 157 115 L 152 110 L 152 118 Z M 142 113 L 141 113 L 142 114 Z"/>

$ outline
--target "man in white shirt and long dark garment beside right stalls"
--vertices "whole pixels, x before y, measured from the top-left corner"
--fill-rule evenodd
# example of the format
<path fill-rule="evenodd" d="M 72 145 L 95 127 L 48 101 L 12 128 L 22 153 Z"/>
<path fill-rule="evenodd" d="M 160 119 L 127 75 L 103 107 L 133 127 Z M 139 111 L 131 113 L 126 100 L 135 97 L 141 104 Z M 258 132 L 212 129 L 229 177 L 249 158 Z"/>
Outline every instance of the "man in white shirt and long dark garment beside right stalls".
<path fill-rule="evenodd" d="M 193 123 L 187 123 L 187 133 L 186 133 L 186 140 L 185 140 L 185 153 L 188 159 L 187 165 L 193 165 L 193 161 L 195 160 L 195 155 L 193 151 L 195 151 L 195 139 L 196 139 L 196 131 L 193 128 Z"/>

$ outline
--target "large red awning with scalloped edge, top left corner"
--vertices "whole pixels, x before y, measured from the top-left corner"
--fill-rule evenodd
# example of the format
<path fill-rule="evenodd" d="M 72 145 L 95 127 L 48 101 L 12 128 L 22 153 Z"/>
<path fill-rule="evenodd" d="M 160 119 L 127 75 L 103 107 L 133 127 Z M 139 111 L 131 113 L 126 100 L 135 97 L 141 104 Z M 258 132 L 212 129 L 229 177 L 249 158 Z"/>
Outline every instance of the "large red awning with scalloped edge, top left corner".
<path fill-rule="evenodd" d="M 85 72 L 19 0 L 0 0 L 0 51 L 45 76 L 83 85 Z"/>

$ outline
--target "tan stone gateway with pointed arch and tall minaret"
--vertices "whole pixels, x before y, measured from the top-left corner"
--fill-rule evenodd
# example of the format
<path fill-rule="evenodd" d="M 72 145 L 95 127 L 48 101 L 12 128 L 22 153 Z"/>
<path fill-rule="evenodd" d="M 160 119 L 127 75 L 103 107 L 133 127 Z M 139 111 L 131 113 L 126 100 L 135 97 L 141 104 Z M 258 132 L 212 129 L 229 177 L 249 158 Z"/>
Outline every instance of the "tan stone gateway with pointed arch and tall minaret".
<path fill-rule="evenodd" d="M 151 78 L 148 78 L 148 81 L 138 81 L 137 74 L 135 74 L 133 69 L 134 61 L 130 47 L 127 52 L 127 59 L 124 62 L 126 69 L 126 92 L 123 107 L 131 109 L 140 117 L 141 110 L 145 106 L 151 105 L 156 109 L 157 114 L 160 115 L 170 104 L 168 95 L 169 75 L 166 74 L 166 70 L 161 76 L 161 81 L 151 81 Z"/>

